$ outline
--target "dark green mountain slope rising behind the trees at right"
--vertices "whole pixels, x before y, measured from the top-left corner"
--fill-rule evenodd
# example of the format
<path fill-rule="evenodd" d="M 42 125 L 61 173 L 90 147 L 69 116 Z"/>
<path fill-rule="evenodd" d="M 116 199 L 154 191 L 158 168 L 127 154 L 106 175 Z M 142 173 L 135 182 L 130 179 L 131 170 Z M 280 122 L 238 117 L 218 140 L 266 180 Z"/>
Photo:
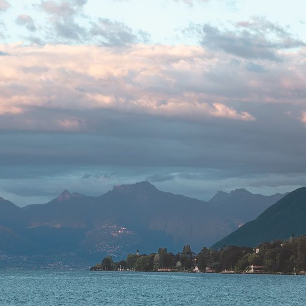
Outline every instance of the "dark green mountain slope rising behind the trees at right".
<path fill-rule="evenodd" d="M 306 234 L 306 187 L 290 192 L 237 231 L 213 245 L 256 246 L 265 241 Z"/>

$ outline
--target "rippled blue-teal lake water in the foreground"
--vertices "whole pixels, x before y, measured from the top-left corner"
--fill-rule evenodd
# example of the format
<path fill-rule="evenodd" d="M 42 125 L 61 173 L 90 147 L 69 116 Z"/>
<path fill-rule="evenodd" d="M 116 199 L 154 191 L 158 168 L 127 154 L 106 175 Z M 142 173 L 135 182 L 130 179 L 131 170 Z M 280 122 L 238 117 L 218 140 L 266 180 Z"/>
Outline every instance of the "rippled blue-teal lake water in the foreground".
<path fill-rule="evenodd" d="M 0 305 L 306 305 L 306 276 L 0 270 Z"/>

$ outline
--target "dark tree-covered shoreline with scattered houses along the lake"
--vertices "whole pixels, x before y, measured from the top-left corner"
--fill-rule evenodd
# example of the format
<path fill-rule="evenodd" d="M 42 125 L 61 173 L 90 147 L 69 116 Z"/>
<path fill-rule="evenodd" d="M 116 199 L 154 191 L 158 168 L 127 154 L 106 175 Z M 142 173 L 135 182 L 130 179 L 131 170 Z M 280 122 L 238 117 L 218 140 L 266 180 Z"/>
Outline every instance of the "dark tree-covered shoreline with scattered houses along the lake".
<path fill-rule="evenodd" d="M 166 248 L 157 253 L 129 254 L 126 260 L 114 262 L 106 257 L 92 271 L 188 271 L 223 273 L 282 273 L 293 274 L 306 271 L 306 236 L 290 240 L 265 242 L 256 248 L 227 246 L 218 249 L 204 247 L 198 254 L 189 245 L 182 252 L 173 254 Z"/>

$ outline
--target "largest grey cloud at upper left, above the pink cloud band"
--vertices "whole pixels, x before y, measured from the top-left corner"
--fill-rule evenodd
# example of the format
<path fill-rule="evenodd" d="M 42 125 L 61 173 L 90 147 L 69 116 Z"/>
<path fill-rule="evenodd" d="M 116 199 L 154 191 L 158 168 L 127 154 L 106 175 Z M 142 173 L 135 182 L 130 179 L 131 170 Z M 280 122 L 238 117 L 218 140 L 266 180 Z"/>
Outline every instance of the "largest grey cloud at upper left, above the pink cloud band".
<path fill-rule="evenodd" d="M 107 46 L 125 46 L 148 42 L 149 34 L 134 31 L 123 22 L 85 15 L 86 0 L 41 0 L 38 6 L 46 13 L 49 27 L 45 41 L 55 43 L 88 43 Z M 37 38 L 30 38 L 34 40 Z"/>

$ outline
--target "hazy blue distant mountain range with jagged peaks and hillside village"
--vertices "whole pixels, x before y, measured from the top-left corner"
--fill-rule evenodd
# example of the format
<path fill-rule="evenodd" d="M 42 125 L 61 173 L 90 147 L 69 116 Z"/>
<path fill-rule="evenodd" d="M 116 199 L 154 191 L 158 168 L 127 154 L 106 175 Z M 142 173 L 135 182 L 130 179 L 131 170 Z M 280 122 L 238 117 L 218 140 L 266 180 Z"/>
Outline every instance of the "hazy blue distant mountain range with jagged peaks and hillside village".
<path fill-rule="evenodd" d="M 0 252 L 73 253 L 91 262 L 125 257 L 139 246 L 151 252 L 211 245 L 281 199 L 245 189 L 217 192 L 209 201 L 158 190 L 148 182 L 114 186 L 93 197 L 65 190 L 42 205 L 19 208 L 0 198 Z"/>

